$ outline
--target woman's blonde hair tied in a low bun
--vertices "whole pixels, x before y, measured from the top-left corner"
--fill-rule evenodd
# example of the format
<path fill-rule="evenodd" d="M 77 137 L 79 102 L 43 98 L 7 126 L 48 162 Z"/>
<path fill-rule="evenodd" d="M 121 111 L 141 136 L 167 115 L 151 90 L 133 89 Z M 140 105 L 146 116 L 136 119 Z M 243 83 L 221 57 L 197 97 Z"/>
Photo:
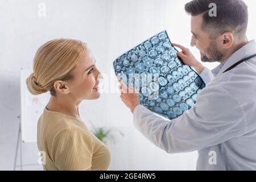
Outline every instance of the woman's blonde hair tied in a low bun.
<path fill-rule="evenodd" d="M 34 73 L 27 78 L 27 88 L 33 95 L 50 91 L 56 96 L 54 82 L 69 80 L 72 70 L 87 46 L 80 40 L 54 39 L 41 46 L 34 57 Z"/>

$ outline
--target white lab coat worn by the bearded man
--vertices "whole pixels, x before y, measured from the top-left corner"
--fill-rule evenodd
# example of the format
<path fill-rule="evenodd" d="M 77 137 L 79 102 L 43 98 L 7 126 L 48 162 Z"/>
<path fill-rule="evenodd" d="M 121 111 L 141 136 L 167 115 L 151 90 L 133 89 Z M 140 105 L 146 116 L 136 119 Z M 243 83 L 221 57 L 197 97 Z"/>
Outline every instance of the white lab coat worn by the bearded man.
<path fill-rule="evenodd" d="M 256 57 L 223 73 L 254 53 L 252 40 L 213 71 L 205 68 L 196 106 L 172 121 L 137 106 L 135 127 L 168 153 L 197 150 L 197 170 L 256 170 Z"/>

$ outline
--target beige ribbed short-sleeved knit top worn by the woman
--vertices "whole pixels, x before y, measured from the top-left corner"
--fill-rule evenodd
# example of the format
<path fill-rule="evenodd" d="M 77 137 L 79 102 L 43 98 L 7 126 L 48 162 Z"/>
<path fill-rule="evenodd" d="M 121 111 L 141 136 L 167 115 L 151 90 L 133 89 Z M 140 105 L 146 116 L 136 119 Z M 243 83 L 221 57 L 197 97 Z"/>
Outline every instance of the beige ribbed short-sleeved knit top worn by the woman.
<path fill-rule="evenodd" d="M 107 170 L 109 148 L 80 119 L 44 108 L 38 121 L 44 170 Z"/>

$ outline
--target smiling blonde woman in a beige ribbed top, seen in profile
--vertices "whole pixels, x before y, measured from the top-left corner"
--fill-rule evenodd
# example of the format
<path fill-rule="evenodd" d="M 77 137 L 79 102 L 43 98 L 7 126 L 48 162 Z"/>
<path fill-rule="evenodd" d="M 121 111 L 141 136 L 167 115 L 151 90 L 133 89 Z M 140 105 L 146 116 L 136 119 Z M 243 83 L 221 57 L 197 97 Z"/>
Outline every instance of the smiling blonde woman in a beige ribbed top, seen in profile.
<path fill-rule="evenodd" d="M 107 170 L 109 148 L 79 115 L 83 100 L 96 100 L 100 72 L 92 52 L 79 40 L 55 39 L 38 49 L 27 88 L 51 98 L 38 121 L 38 149 L 46 152 L 44 170 Z"/>

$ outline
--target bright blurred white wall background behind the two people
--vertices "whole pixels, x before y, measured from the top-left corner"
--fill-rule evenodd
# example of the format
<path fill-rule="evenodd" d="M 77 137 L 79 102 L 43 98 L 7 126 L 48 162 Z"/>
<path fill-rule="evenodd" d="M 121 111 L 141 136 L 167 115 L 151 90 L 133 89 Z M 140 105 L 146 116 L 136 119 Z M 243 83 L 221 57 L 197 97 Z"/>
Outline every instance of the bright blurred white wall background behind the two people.
<path fill-rule="evenodd" d="M 32 69 L 33 57 L 42 44 L 55 38 L 80 39 L 92 49 L 100 71 L 110 77 L 113 61 L 119 55 L 160 31 L 167 30 L 172 42 L 191 48 L 190 16 L 184 11 L 187 2 L 0 0 L 0 170 L 42 170 L 36 141 L 24 139 L 28 129 L 35 130 L 34 126 L 23 126 L 24 141 L 18 143 L 23 99 L 20 69 Z M 256 32 L 256 3 L 245 2 L 249 6 L 247 35 L 251 40 Z M 196 48 L 191 51 L 200 59 Z M 210 69 L 217 65 L 205 64 Z M 114 77 L 109 80 L 117 83 Z M 99 100 L 83 101 L 80 115 L 90 129 L 92 124 L 113 129 L 115 142 L 106 143 L 112 151 L 110 170 L 196 169 L 196 151 L 166 154 L 135 130 L 133 115 L 118 93 L 102 93 Z M 32 122 L 36 126 L 38 121 Z"/>

